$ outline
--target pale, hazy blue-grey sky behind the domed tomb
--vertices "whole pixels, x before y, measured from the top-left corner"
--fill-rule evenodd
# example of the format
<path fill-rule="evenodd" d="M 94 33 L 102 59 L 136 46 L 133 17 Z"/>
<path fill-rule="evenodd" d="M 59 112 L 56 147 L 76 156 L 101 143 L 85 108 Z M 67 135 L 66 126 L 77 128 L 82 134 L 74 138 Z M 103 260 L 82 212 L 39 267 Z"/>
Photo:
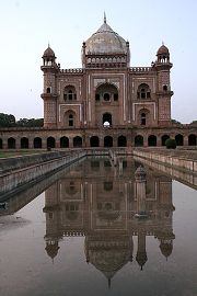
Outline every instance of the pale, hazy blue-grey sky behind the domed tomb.
<path fill-rule="evenodd" d="M 81 46 L 103 24 L 129 41 L 131 67 L 151 65 L 164 42 L 171 53 L 172 118 L 197 119 L 197 0 L 0 0 L 0 113 L 43 117 L 42 56 L 81 67 Z"/>

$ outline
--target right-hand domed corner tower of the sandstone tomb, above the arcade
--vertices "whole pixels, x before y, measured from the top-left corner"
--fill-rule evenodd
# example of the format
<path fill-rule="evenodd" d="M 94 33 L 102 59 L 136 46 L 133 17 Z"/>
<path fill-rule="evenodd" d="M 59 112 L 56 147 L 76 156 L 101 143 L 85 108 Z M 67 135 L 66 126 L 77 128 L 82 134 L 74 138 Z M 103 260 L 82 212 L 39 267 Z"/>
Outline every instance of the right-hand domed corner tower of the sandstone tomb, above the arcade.
<path fill-rule="evenodd" d="M 173 95 L 170 70 L 173 65 L 170 61 L 169 48 L 164 44 L 158 49 L 157 57 L 153 67 L 158 71 L 158 124 L 159 126 L 169 126 L 171 125 L 171 96 Z"/>

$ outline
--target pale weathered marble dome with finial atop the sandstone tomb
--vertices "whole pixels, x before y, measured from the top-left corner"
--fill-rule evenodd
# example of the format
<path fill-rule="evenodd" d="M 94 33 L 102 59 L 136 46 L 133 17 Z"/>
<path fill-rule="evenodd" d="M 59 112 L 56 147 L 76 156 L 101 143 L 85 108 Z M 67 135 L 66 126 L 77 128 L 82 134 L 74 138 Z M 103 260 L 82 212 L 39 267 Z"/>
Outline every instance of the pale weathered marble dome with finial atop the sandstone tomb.
<path fill-rule="evenodd" d="M 126 41 L 106 23 L 85 42 L 85 54 L 127 54 Z"/>

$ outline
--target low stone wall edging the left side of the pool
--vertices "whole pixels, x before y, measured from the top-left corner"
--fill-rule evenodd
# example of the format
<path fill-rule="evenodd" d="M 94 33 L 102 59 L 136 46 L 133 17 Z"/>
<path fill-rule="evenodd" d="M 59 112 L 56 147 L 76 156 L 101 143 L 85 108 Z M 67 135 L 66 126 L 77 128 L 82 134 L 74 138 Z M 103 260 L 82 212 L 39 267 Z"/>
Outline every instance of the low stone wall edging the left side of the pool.
<path fill-rule="evenodd" d="M 47 173 L 83 158 L 85 151 L 54 151 L 48 153 L 16 157 L 1 160 L 0 198 L 7 197 L 7 192 L 21 189 L 30 182 L 46 178 Z"/>

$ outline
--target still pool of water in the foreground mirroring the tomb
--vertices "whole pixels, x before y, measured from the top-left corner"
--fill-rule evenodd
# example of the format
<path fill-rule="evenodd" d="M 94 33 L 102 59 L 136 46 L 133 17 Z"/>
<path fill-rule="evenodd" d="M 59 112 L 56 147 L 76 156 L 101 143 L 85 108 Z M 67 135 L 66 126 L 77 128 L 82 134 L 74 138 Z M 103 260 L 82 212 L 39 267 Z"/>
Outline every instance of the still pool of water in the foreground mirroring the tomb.
<path fill-rule="evenodd" d="M 0 208 L 0 295 L 195 296 L 196 226 L 195 186 L 89 157 Z"/>

